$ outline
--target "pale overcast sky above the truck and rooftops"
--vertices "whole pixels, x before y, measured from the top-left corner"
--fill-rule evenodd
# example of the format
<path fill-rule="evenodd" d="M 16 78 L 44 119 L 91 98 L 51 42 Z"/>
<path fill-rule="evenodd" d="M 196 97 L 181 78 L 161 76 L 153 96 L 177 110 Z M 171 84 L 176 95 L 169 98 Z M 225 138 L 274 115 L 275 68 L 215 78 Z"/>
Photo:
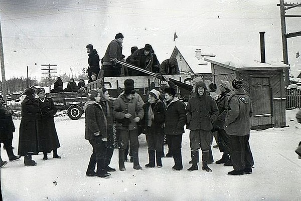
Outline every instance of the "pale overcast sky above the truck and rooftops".
<path fill-rule="evenodd" d="M 6 78 L 40 79 L 41 65 L 58 72 L 87 68 L 86 45 L 100 57 L 114 36 L 124 35 L 123 54 L 130 47 L 153 46 L 159 61 L 175 45 L 201 48 L 217 56 L 260 60 L 259 32 L 265 31 L 266 61 L 282 61 L 280 12 L 277 0 L 2 0 L 1 27 Z M 300 15 L 295 8 L 288 14 Z M 287 32 L 301 31 L 301 19 L 287 19 Z M 173 42 L 174 32 L 178 39 Z M 301 45 L 288 40 L 289 61 Z M 36 65 L 35 65 L 36 64 Z"/>

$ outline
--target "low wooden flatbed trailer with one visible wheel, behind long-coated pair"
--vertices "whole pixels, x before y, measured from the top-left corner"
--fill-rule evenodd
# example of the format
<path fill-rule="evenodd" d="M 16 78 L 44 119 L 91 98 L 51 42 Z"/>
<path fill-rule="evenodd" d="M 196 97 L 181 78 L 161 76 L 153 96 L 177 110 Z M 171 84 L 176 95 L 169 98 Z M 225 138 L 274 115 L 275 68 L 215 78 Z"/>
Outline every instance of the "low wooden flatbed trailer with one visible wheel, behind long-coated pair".
<path fill-rule="evenodd" d="M 87 95 L 84 92 L 58 92 L 46 94 L 52 98 L 54 105 L 59 110 L 67 110 L 70 119 L 79 119 L 83 114 L 83 106 L 87 102 Z"/>

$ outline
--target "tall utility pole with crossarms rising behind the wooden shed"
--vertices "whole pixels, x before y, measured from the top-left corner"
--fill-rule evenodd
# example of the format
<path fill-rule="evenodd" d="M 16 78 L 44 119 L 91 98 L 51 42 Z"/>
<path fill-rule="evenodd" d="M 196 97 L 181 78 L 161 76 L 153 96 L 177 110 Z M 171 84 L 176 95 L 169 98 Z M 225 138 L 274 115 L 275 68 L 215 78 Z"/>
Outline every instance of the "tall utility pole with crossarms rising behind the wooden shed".
<path fill-rule="evenodd" d="M 281 36 L 282 36 L 282 53 L 283 53 L 283 62 L 284 64 L 288 65 L 288 53 L 287 53 L 287 38 L 297 37 L 301 36 L 301 31 L 299 32 L 293 32 L 293 33 L 286 33 L 286 23 L 285 18 L 299 18 L 300 15 L 285 15 L 285 11 L 289 9 L 293 9 L 296 7 L 300 7 L 301 4 L 297 3 L 284 3 L 284 0 L 280 0 L 280 4 L 277 4 L 277 6 L 280 6 L 280 20 L 281 20 Z M 285 77 L 285 85 L 289 85 L 289 71 L 284 70 L 284 77 Z"/>

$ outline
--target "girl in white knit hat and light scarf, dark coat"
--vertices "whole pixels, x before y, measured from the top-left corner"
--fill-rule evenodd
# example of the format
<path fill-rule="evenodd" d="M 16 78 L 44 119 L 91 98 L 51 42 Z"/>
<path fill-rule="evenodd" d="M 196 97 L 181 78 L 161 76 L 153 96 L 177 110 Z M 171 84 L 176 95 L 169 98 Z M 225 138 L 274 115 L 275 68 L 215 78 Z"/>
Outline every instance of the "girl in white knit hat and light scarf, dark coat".
<path fill-rule="evenodd" d="M 164 140 L 164 103 L 159 99 L 160 92 L 152 89 L 148 94 L 148 101 L 143 105 L 144 118 L 141 121 L 143 133 L 146 134 L 149 162 L 145 165 L 155 167 L 155 150 L 157 166 L 162 167 L 162 147 Z"/>

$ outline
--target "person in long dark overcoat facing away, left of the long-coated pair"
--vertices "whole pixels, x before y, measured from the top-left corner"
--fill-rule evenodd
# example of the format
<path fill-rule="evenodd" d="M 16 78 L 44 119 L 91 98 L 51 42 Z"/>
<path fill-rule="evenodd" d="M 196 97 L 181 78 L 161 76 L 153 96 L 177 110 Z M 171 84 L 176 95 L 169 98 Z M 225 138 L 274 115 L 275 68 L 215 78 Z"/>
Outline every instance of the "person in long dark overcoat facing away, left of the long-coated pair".
<path fill-rule="evenodd" d="M 35 166 L 37 163 L 32 160 L 32 155 L 39 152 L 36 116 L 40 110 L 39 103 L 35 99 L 35 90 L 28 88 L 25 91 L 25 95 L 26 97 L 22 102 L 18 155 L 25 156 L 25 166 Z"/>

